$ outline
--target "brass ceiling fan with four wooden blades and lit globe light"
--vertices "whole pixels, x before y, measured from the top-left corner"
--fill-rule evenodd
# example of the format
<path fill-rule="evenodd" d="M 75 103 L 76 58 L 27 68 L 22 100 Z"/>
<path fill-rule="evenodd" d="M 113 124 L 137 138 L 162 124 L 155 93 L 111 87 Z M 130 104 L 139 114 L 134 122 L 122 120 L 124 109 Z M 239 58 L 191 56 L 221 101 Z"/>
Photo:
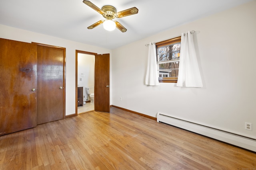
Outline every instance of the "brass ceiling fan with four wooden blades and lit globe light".
<path fill-rule="evenodd" d="M 112 31 L 117 27 L 120 31 L 126 32 L 127 29 L 123 25 L 121 25 L 118 21 L 113 21 L 113 19 L 122 18 L 122 17 L 133 15 L 133 14 L 138 14 L 138 9 L 136 7 L 129 8 L 127 10 L 123 10 L 120 12 L 116 12 L 116 8 L 111 5 L 105 5 L 100 9 L 88 0 L 83 0 L 83 2 L 84 4 L 90 6 L 92 9 L 94 9 L 98 13 L 102 14 L 104 18 L 106 18 L 106 20 L 100 20 L 90 25 L 89 27 L 87 27 L 88 29 L 93 29 L 103 23 L 104 29 L 108 31 Z"/>

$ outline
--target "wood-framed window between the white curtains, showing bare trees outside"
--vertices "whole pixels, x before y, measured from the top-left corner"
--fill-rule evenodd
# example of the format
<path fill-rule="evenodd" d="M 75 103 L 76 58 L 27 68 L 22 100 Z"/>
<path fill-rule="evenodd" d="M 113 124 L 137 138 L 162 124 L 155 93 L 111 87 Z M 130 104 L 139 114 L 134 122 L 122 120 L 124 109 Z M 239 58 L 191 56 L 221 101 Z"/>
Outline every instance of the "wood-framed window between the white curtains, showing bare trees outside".
<path fill-rule="evenodd" d="M 177 82 L 180 63 L 180 41 L 181 37 L 176 37 L 156 43 L 159 82 Z"/>

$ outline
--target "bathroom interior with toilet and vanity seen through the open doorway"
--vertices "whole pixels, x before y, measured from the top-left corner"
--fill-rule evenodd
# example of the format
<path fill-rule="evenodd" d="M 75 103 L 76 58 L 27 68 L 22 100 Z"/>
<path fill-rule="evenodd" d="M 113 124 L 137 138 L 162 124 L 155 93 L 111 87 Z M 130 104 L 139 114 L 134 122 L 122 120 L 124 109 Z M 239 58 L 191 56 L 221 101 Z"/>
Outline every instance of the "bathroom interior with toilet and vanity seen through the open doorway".
<path fill-rule="evenodd" d="M 94 111 L 94 55 L 78 53 L 78 114 Z"/>

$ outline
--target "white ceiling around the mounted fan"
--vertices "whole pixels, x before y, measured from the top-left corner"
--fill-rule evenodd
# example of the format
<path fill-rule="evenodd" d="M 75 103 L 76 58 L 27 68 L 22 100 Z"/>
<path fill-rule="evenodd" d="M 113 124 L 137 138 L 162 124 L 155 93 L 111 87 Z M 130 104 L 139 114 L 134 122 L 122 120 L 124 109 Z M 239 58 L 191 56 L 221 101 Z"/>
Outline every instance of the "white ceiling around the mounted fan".
<path fill-rule="evenodd" d="M 0 24 L 80 43 L 115 49 L 183 23 L 238 6 L 251 0 L 90 0 L 117 11 L 137 7 L 138 14 L 115 18 L 127 31 L 106 31 L 104 20 L 82 0 L 0 0 Z"/>

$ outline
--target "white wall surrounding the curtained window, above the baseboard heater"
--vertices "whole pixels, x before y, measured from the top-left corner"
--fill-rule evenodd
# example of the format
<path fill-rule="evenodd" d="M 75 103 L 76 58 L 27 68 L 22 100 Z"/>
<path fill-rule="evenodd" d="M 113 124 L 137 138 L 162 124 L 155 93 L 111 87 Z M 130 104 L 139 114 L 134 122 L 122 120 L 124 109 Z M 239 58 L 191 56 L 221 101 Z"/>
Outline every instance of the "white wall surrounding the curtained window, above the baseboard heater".
<path fill-rule="evenodd" d="M 156 117 L 158 111 L 256 138 L 256 1 L 186 23 L 112 52 L 112 104 Z M 203 88 L 144 85 L 148 44 L 195 30 Z M 122 101 L 120 101 L 122 97 Z M 252 131 L 244 129 L 252 123 Z"/>

